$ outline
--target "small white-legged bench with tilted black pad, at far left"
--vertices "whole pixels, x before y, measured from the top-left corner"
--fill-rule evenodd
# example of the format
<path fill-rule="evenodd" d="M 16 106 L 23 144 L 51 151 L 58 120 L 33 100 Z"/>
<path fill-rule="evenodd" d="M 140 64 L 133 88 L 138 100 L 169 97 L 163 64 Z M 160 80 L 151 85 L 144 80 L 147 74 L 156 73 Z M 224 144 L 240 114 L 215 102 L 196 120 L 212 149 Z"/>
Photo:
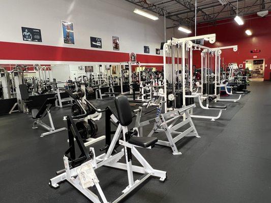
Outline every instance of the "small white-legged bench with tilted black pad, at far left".
<path fill-rule="evenodd" d="M 58 128 L 58 129 L 54 128 L 50 109 L 54 105 L 55 100 L 56 100 L 55 97 L 46 98 L 46 100 L 44 101 L 44 103 L 40 109 L 32 109 L 32 111 L 31 111 L 32 118 L 35 119 L 32 128 L 36 129 L 36 128 L 38 128 L 38 126 L 41 126 L 44 129 L 48 130 L 48 132 L 42 133 L 40 137 L 48 136 L 49 134 L 53 134 L 55 132 L 59 132 L 59 131 L 67 129 L 66 127 L 62 127 L 62 128 Z M 48 115 L 50 126 L 43 122 L 43 119 L 45 118 L 46 115 Z"/>

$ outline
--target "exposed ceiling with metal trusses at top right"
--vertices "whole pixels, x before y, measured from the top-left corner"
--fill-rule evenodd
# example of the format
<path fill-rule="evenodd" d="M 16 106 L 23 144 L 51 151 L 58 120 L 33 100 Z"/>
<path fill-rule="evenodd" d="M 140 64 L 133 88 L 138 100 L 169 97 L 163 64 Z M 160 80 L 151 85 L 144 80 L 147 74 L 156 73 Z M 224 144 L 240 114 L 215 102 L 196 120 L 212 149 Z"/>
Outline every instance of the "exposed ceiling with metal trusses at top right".
<path fill-rule="evenodd" d="M 125 0 L 142 8 L 142 10 L 158 16 L 166 16 L 174 22 L 174 26 L 193 26 L 195 24 L 195 9 L 197 9 L 198 23 L 216 23 L 217 20 L 233 18 L 237 14 L 237 1 L 228 0 L 228 4 L 222 5 L 219 2 L 205 1 L 206 4 L 198 4 L 195 8 L 195 0 Z M 239 0 L 238 15 L 250 15 L 258 11 L 271 10 L 270 0 Z"/>

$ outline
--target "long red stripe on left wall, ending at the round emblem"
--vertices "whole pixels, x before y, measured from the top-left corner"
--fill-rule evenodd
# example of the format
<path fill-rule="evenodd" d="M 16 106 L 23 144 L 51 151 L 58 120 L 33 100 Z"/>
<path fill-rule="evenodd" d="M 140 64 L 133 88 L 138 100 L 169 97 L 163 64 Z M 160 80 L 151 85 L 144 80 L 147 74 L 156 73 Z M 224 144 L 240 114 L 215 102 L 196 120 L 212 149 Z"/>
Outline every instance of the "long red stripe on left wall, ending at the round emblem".
<path fill-rule="evenodd" d="M 0 42 L 2 60 L 43 60 L 82 62 L 122 62 L 129 60 L 129 53 L 98 51 L 68 47 Z"/>

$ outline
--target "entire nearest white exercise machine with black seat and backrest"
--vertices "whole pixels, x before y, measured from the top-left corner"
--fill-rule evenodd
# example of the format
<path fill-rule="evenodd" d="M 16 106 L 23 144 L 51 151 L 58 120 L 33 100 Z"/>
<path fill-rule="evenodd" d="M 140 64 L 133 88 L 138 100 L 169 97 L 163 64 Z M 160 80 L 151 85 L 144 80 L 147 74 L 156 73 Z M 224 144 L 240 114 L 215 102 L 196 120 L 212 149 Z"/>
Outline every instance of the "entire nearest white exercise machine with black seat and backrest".
<path fill-rule="evenodd" d="M 87 102 L 89 103 L 89 101 Z M 106 113 L 106 145 L 101 149 L 106 150 L 106 153 L 97 157 L 95 156 L 95 151 L 93 148 L 90 148 L 90 153 L 87 153 L 72 117 L 67 117 L 70 147 L 64 155 L 65 170 L 57 172 L 58 176 L 50 180 L 49 185 L 51 187 L 57 188 L 59 187 L 58 184 L 60 182 L 66 180 L 82 194 L 84 194 L 89 200 L 95 203 L 109 203 L 99 184 L 95 170 L 101 166 L 110 166 L 112 168 L 127 171 L 128 174 L 129 185 L 122 191 L 120 196 L 118 196 L 115 200 L 110 201 L 116 203 L 125 198 L 131 191 L 137 188 L 150 176 L 160 178 L 161 182 L 165 181 L 166 172 L 155 170 L 136 149 L 137 147 L 152 148 L 158 141 L 157 138 L 132 137 L 132 133 L 128 131 L 128 125 L 131 124 L 133 116 L 127 97 L 124 95 L 116 96 L 115 105 L 117 116 L 112 112 L 110 107 L 101 110 Z M 111 123 L 117 126 L 112 140 Z M 81 155 L 78 158 L 76 158 L 75 155 L 74 139 L 76 140 L 81 151 Z M 118 145 L 123 146 L 123 149 L 120 152 L 115 151 Z M 132 165 L 132 155 L 140 162 L 142 166 Z M 125 156 L 125 162 L 119 162 L 123 156 Z M 91 171 L 92 175 L 88 177 L 85 175 L 85 167 L 88 168 L 88 172 Z M 84 181 L 80 179 L 82 176 L 81 172 L 84 173 L 85 180 L 88 179 L 91 182 L 91 184 L 88 184 L 88 187 L 85 187 Z M 133 172 L 143 174 L 143 176 L 134 181 Z M 90 186 L 94 186 L 98 194 L 95 194 Z"/>

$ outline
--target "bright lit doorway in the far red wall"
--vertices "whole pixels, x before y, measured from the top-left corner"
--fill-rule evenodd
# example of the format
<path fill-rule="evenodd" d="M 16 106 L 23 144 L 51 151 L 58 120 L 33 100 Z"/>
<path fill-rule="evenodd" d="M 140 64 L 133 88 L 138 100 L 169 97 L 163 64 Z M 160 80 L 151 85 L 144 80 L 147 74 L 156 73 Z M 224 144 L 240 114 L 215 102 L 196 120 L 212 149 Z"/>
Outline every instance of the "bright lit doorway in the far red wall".
<path fill-rule="evenodd" d="M 251 78 L 263 78 L 264 66 L 264 59 L 246 60 L 246 69 L 249 69 Z"/>

